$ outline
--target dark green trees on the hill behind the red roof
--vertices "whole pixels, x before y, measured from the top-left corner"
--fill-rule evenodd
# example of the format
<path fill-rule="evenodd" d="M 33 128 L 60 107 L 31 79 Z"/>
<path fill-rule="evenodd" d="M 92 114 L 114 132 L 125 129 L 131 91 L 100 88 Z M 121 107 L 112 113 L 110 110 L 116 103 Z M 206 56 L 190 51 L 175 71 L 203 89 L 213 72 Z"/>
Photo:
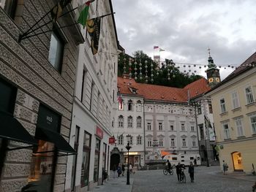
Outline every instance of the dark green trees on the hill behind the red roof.
<path fill-rule="evenodd" d="M 137 79 L 135 78 L 135 66 L 137 68 Z M 140 72 L 142 79 L 140 79 Z M 142 50 L 133 53 L 133 57 L 123 53 L 118 56 L 118 76 L 121 77 L 123 74 L 135 78 L 136 82 L 164 85 L 174 88 L 184 88 L 189 83 L 202 78 L 200 75 L 189 75 L 180 72 L 176 64 L 169 59 L 165 59 L 165 64 L 162 63 L 161 66 L 158 66 L 157 63 L 148 57 L 146 53 L 143 53 Z M 153 76 L 151 76 L 152 74 Z M 146 82 L 146 76 L 148 76 L 148 82 Z M 151 81 L 151 79 L 154 81 Z"/>

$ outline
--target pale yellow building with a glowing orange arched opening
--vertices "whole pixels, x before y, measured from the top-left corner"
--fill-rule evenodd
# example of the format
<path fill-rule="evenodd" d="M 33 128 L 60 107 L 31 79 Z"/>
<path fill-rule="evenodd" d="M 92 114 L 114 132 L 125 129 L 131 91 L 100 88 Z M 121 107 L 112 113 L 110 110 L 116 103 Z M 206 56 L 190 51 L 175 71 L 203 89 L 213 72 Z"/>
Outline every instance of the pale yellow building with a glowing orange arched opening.
<path fill-rule="evenodd" d="M 256 169 L 256 53 L 206 96 L 211 97 L 217 150 L 228 172 Z"/>

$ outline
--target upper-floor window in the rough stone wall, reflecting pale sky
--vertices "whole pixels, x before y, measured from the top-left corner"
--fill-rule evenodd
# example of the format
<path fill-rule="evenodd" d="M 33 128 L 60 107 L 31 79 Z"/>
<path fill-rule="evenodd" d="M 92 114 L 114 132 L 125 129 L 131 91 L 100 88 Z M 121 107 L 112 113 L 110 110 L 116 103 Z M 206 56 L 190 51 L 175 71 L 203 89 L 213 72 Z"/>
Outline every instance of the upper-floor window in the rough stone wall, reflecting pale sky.
<path fill-rule="evenodd" d="M 48 60 L 50 64 L 61 72 L 61 63 L 64 52 L 64 41 L 61 39 L 57 31 L 53 31 L 50 37 L 50 49 Z"/>

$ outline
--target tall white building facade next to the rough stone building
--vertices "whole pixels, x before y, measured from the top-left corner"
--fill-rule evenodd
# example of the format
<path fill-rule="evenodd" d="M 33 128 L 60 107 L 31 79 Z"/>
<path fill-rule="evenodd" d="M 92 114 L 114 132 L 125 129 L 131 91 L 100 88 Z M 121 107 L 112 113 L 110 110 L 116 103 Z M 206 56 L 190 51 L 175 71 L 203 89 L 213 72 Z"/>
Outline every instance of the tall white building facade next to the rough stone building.
<path fill-rule="evenodd" d="M 93 2 L 90 18 L 113 12 L 111 1 Z M 79 46 L 70 145 L 77 155 L 69 156 L 66 191 L 89 191 L 102 183 L 109 172 L 110 132 L 113 102 L 116 100 L 118 40 L 113 15 L 102 18 L 99 50 L 92 55 L 90 36 Z"/>

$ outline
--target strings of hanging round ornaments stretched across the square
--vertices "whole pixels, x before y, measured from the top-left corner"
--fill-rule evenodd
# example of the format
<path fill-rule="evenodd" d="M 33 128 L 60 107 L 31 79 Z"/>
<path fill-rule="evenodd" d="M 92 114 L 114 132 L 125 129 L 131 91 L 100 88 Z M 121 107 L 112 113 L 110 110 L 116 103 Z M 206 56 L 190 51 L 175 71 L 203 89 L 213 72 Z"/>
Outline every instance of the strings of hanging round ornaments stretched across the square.
<path fill-rule="evenodd" d="M 118 55 L 118 61 L 121 61 L 120 55 Z M 207 69 L 208 65 L 203 64 L 185 64 L 173 62 L 170 60 L 170 63 L 166 63 L 166 61 L 140 61 L 137 58 L 123 58 L 124 62 L 124 74 L 129 75 L 129 79 L 131 80 L 134 77 L 135 80 L 143 80 L 145 78 L 145 82 L 148 80 L 154 82 L 154 76 L 159 75 L 163 72 L 163 70 L 167 69 L 167 80 L 171 80 L 171 77 L 175 78 L 178 72 L 183 72 L 187 75 L 196 75 L 200 70 Z M 157 64 L 157 67 L 154 67 L 154 64 Z M 162 66 L 160 67 L 159 64 Z M 132 68 L 134 66 L 134 68 Z M 242 66 L 256 66 L 256 63 L 244 64 Z M 219 65 L 216 66 L 217 69 L 237 69 L 238 65 Z M 127 70 L 128 69 L 128 70 Z M 144 69 L 144 70 L 143 70 Z M 134 73 L 132 73 L 134 72 Z M 143 72 L 145 72 L 143 74 Z"/>

